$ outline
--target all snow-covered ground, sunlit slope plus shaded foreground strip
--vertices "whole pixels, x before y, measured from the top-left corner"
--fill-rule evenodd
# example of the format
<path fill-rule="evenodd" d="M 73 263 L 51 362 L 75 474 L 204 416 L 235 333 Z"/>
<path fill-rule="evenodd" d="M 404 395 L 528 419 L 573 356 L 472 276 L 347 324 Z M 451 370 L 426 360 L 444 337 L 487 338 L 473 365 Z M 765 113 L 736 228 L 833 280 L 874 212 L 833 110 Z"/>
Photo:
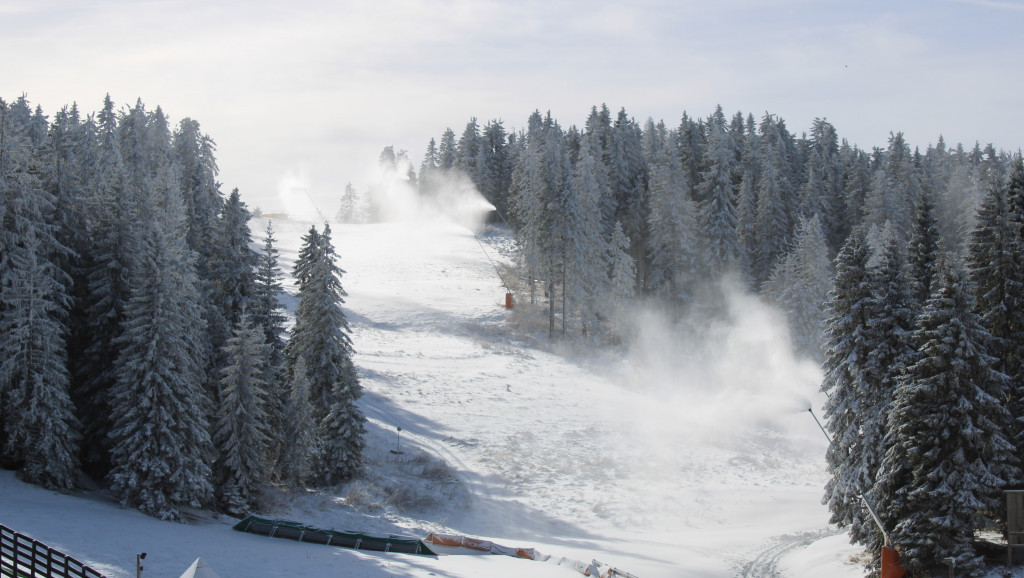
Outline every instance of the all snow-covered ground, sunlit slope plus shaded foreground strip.
<path fill-rule="evenodd" d="M 290 269 L 309 223 L 273 226 Z M 197 556 L 224 578 L 580 576 L 563 558 L 642 578 L 862 575 L 820 504 L 825 441 L 806 411 L 819 406 L 816 370 L 784 353 L 771 312 L 731 298 L 732 321 L 700 333 L 711 357 L 640 313 L 650 330 L 636 347 L 568 350 L 547 344 L 528 295 L 503 307 L 490 259 L 506 258 L 506 236 L 442 220 L 332 226 L 370 468 L 337 496 L 270 496 L 262 513 L 461 533 L 550 561 L 358 552 L 232 532 L 220 517 L 164 523 L 6 471 L 0 524 L 112 577 L 133 576 L 142 551 L 143 576 L 170 578 Z"/>

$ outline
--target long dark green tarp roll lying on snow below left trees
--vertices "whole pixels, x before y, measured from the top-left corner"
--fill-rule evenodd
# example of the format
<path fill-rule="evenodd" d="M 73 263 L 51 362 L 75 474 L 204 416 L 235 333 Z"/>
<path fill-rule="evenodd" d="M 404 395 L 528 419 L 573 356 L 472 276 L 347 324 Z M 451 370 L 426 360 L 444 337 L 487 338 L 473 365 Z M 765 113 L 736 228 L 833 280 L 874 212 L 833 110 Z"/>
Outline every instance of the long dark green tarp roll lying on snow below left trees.
<path fill-rule="evenodd" d="M 269 520 L 256 515 L 250 515 L 239 522 L 234 525 L 234 529 L 239 532 L 260 534 L 270 536 L 271 538 L 288 538 L 289 540 L 298 540 L 300 542 L 328 544 L 331 546 L 355 548 L 357 550 L 437 555 L 419 538 L 324 530 L 299 524 L 298 522 Z"/>

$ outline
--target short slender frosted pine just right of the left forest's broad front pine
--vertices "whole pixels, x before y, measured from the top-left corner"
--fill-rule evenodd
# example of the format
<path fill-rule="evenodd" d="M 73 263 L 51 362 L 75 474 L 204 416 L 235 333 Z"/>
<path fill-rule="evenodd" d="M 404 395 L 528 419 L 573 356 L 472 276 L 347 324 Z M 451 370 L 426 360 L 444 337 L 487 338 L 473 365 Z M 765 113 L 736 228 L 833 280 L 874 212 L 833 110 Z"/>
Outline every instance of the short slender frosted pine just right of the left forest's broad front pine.
<path fill-rule="evenodd" d="M 252 510 L 260 487 L 269 477 L 266 348 L 263 332 L 242 313 L 224 344 L 225 366 L 220 370 L 223 404 L 218 408 L 215 437 L 220 504 L 232 515 Z"/>

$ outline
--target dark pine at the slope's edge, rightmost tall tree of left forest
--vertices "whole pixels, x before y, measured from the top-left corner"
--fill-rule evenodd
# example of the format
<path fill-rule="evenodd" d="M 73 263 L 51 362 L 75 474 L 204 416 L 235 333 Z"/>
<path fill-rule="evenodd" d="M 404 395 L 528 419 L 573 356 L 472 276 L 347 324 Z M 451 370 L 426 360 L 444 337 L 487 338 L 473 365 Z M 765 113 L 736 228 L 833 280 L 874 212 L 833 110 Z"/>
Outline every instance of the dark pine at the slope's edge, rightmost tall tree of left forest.
<path fill-rule="evenodd" d="M 309 399 L 324 447 L 314 478 L 332 485 L 361 466 L 366 418 L 355 402 L 362 387 L 352 364 L 351 329 L 341 308 L 344 271 L 336 263 L 330 225 L 324 225 L 323 234 L 312 228 L 303 241 L 295 264 L 299 304 L 285 356 L 293 381 L 299 358 L 306 363 Z"/>

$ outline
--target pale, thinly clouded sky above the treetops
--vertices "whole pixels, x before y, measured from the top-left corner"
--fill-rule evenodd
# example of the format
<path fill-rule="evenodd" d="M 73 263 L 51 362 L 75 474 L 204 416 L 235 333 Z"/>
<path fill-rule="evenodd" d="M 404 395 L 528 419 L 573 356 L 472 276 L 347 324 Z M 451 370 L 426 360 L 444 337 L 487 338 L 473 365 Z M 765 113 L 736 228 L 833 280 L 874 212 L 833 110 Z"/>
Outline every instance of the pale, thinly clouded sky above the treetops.
<path fill-rule="evenodd" d="M 0 0 L 0 96 L 141 98 L 201 123 L 225 193 L 282 210 L 285 183 L 332 215 L 385 146 L 419 166 L 445 127 L 535 109 L 676 126 L 721 104 L 864 149 L 1016 151 L 1022 30 L 1024 0 Z"/>

